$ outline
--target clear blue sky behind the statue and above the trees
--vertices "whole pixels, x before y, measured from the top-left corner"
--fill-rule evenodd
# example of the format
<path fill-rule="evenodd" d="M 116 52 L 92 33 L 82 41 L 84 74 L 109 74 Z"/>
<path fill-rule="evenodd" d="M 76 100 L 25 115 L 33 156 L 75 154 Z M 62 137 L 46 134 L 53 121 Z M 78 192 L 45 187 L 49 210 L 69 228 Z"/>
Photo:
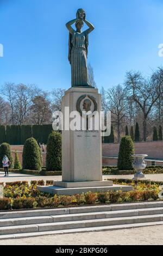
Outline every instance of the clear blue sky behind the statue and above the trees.
<path fill-rule="evenodd" d="M 162 0 L 0 0 L 0 86 L 34 83 L 44 90 L 71 87 L 65 23 L 84 8 L 95 25 L 88 62 L 97 86 L 123 83 L 126 71 L 145 75 L 162 65 Z"/>

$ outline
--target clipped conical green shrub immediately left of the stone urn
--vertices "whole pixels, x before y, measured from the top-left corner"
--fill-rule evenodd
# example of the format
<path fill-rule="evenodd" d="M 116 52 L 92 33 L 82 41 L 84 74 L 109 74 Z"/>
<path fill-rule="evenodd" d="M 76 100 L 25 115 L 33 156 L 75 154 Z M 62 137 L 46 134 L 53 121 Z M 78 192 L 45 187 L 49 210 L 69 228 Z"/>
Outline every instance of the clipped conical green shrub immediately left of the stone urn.
<path fill-rule="evenodd" d="M 119 170 L 131 170 L 133 169 L 133 157 L 134 154 L 134 142 L 130 136 L 124 136 L 121 139 L 120 151 L 118 154 L 118 164 Z"/>

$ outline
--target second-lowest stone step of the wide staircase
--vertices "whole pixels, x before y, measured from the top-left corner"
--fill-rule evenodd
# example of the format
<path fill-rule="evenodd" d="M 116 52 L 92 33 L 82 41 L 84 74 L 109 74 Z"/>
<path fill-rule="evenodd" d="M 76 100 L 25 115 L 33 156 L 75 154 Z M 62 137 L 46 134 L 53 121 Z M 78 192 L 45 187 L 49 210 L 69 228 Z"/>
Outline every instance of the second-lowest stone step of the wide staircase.
<path fill-rule="evenodd" d="M 41 231 L 58 231 L 64 229 L 78 229 L 78 228 L 92 228 L 104 227 L 108 225 L 122 225 L 134 224 L 145 222 L 159 222 L 163 221 L 162 215 L 147 215 L 147 216 L 133 216 L 133 217 L 116 217 L 116 218 L 103 218 L 97 220 L 84 220 L 84 221 L 67 221 L 55 223 L 41 223 L 41 224 L 24 224 L 7 226 L 0 228 L 0 235 L 18 234 L 18 233 L 32 233 Z"/>

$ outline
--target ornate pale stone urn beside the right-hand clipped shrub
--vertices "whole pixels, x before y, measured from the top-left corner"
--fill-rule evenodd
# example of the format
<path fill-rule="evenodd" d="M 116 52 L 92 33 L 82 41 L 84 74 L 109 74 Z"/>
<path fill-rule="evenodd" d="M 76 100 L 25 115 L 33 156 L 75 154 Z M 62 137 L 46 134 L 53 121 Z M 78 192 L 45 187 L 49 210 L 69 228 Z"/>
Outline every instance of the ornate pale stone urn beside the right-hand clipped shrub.
<path fill-rule="evenodd" d="M 132 155 L 134 159 L 133 168 L 134 170 L 136 170 L 136 173 L 133 179 L 145 178 L 145 174 L 142 173 L 142 170 L 144 170 L 147 166 L 147 162 L 145 162 L 145 157 L 147 156 L 148 155 Z"/>

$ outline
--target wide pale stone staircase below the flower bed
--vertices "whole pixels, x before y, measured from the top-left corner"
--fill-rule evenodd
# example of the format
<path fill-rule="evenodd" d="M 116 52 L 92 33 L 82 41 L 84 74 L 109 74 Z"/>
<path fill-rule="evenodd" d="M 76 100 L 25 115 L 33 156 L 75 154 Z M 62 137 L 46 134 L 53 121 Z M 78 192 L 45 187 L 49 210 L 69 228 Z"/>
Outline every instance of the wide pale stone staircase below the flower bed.
<path fill-rule="evenodd" d="M 163 202 L 0 212 L 0 239 L 163 224 Z"/>

